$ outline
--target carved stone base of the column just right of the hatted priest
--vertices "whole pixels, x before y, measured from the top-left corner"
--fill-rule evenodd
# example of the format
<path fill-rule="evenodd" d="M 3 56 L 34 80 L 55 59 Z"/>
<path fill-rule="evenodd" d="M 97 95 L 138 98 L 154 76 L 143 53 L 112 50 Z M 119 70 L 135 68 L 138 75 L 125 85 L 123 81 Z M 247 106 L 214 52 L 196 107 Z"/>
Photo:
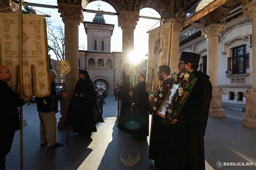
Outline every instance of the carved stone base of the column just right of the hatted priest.
<path fill-rule="evenodd" d="M 223 94 L 223 91 L 221 89 L 213 88 L 209 117 L 225 116 L 224 109 L 222 108 L 222 94 Z"/>

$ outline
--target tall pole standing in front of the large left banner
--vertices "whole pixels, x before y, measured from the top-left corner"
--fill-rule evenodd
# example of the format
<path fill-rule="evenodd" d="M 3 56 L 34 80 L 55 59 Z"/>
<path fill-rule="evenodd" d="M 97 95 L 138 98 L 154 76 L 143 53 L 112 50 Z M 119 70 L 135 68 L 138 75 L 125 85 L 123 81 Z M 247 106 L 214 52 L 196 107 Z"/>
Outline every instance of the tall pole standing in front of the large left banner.
<path fill-rule="evenodd" d="M 23 87 L 22 80 L 22 1 L 19 0 L 19 88 Z M 22 90 L 19 90 L 21 97 L 23 95 Z M 20 107 L 20 120 L 21 120 L 21 130 L 20 132 L 20 168 L 23 169 L 23 107 Z"/>

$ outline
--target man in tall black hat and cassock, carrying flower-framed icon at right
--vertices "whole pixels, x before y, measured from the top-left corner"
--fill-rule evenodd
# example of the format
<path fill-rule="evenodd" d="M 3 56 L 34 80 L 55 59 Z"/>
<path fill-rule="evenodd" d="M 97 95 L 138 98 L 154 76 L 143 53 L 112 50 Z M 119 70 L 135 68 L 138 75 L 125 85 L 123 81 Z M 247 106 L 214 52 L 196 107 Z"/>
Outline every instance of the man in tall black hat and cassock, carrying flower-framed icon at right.
<path fill-rule="evenodd" d="M 199 54 L 182 52 L 178 65 L 180 72 L 190 72 L 197 78 L 176 123 L 180 169 L 205 169 L 204 135 L 212 99 L 212 84 L 208 75 L 197 71 L 199 60 Z"/>

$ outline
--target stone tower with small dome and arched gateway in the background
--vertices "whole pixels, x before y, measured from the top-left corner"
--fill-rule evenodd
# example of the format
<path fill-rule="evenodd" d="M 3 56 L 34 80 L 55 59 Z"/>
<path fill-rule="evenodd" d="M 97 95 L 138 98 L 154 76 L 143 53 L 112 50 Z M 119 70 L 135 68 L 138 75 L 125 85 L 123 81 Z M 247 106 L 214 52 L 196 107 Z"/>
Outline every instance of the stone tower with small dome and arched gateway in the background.
<path fill-rule="evenodd" d="M 114 25 L 106 24 L 102 15 L 96 14 L 92 22 L 84 22 L 87 34 L 87 51 L 79 50 L 79 68 L 86 69 L 93 83 L 103 82 L 107 94 L 113 94 L 117 82 L 122 82 L 121 52 L 111 52 Z"/>

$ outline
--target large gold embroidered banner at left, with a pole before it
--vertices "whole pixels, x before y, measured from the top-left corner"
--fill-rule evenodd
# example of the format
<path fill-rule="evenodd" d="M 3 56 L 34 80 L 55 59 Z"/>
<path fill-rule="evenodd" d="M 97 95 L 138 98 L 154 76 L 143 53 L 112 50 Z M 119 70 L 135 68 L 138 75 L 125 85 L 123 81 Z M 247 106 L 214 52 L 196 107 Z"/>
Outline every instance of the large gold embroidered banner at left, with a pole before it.
<path fill-rule="evenodd" d="M 23 86 L 25 95 L 38 97 L 50 94 L 48 44 L 43 15 L 23 14 Z M 18 87 L 19 75 L 19 16 L 0 13 L 0 64 L 8 67 L 12 90 Z"/>

